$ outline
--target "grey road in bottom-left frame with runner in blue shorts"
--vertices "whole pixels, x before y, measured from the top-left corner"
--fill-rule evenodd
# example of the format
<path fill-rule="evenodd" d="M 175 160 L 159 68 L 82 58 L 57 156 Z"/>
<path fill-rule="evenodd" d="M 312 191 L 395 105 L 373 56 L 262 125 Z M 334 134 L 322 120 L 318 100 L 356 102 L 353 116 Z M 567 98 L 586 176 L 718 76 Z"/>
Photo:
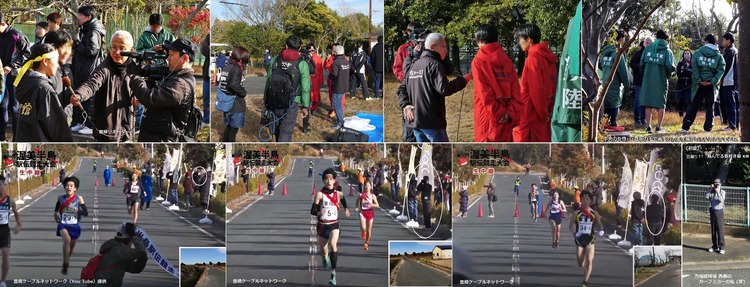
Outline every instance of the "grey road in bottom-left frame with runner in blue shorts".
<path fill-rule="evenodd" d="M 9 286 L 32 286 L 30 282 L 13 285 L 13 279 L 70 280 L 80 278 L 81 268 L 92 256 L 98 254 L 101 244 L 114 238 L 122 222 L 132 222 L 132 216 L 127 213 L 125 197 L 122 194 L 124 183 L 122 177 L 117 178 L 118 186 L 106 187 L 101 176 L 104 169 L 100 168 L 98 173 L 94 174 L 91 172 L 91 167 L 92 159 L 83 158 L 79 171 L 73 174 L 81 181 L 78 195 L 84 198 L 89 216 L 81 219 L 81 237 L 70 259 L 68 274 L 62 275 L 60 272 L 62 239 L 55 235 L 57 223 L 54 221 L 53 210 L 57 197 L 64 194 L 62 186 L 58 184 L 49 192 L 27 201 L 25 205 L 18 206 L 21 208 L 23 228 L 18 235 L 12 235 L 11 269 L 7 281 Z M 96 176 L 99 177 L 98 187 L 94 186 Z M 113 173 L 114 176 L 119 176 L 119 174 Z M 11 226 L 13 225 L 12 223 Z M 179 268 L 180 246 L 223 246 L 166 208 L 160 207 L 156 202 L 152 203 L 150 210 L 143 210 L 139 213 L 138 225 L 148 233 L 162 255 L 176 268 Z M 47 284 L 50 283 L 47 282 Z M 56 284 L 55 286 L 81 285 Z M 125 275 L 123 286 L 179 286 L 179 281 L 149 257 L 143 272 Z"/>

